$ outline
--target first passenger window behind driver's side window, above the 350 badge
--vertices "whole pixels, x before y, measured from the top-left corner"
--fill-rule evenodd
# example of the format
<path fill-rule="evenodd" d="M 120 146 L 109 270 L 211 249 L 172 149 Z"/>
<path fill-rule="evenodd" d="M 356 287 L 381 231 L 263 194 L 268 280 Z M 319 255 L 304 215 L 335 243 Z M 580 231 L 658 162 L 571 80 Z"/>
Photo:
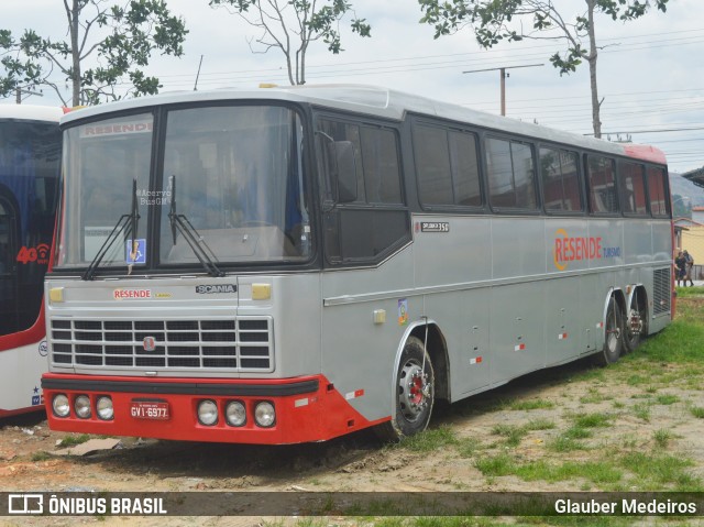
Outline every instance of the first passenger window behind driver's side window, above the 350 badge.
<path fill-rule="evenodd" d="M 482 205 L 474 134 L 420 124 L 414 150 L 424 205 Z"/>

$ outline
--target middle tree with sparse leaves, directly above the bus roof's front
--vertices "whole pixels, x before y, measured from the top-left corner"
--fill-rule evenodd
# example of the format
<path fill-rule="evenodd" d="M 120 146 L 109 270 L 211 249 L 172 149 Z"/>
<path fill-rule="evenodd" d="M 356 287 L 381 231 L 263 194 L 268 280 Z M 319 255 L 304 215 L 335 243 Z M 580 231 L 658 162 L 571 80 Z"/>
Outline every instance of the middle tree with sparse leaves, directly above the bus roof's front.
<path fill-rule="evenodd" d="M 345 0 L 209 0 L 210 7 L 228 9 L 256 28 L 260 36 L 253 39 L 266 53 L 278 48 L 286 57 L 288 80 L 292 85 L 306 84 L 306 53 L 308 46 L 322 41 L 328 51 L 343 51 L 340 23 L 348 12 L 354 12 Z M 356 15 L 350 22 L 353 33 L 371 36 L 372 28 Z M 250 41 L 252 47 L 252 41 Z"/>

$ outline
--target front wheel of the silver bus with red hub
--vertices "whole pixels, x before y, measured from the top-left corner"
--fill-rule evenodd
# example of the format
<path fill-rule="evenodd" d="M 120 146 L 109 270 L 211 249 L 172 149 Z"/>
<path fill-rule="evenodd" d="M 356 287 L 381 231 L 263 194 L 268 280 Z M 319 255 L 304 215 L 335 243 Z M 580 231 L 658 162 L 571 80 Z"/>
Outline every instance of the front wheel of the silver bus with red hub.
<path fill-rule="evenodd" d="M 400 354 L 394 385 L 392 420 L 380 425 L 384 440 L 399 441 L 421 432 L 430 422 L 435 403 L 435 371 L 420 339 L 410 337 Z"/>

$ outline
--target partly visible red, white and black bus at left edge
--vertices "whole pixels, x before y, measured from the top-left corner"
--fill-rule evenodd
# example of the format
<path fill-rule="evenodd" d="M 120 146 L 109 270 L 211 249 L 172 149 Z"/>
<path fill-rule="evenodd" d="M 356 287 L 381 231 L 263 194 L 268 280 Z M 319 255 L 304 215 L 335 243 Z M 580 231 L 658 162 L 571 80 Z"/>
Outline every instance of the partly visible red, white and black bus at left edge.
<path fill-rule="evenodd" d="M 61 163 L 58 108 L 0 106 L 0 417 L 44 408 L 44 273 Z"/>

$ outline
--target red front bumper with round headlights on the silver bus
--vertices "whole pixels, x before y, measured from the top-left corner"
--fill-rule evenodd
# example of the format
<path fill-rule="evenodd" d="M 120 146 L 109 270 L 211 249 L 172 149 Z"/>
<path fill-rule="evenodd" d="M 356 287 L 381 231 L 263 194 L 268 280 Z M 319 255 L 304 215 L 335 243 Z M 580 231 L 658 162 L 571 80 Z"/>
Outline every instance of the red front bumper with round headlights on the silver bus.
<path fill-rule="evenodd" d="M 42 388 L 52 430 L 105 436 L 132 436 L 179 441 L 211 441 L 251 444 L 286 444 L 321 441 L 360 430 L 386 419 L 370 421 L 356 411 L 323 375 L 286 380 L 144 378 L 46 373 Z M 54 414 L 54 396 L 64 394 L 70 414 Z M 73 408 L 76 397 L 86 395 L 91 416 L 79 418 Z M 96 411 L 99 397 L 112 399 L 114 417 L 102 420 Z M 217 404 L 219 419 L 213 426 L 198 420 L 198 404 Z M 246 408 L 246 421 L 233 427 L 224 418 L 228 403 L 239 400 Z M 168 407 L 168 418 L 133 417 L 135 402 L 153 402 Z M 257 403 L 270 402 L 276 409 L 273 426 L 260 427 L 254 419 Z"/>

